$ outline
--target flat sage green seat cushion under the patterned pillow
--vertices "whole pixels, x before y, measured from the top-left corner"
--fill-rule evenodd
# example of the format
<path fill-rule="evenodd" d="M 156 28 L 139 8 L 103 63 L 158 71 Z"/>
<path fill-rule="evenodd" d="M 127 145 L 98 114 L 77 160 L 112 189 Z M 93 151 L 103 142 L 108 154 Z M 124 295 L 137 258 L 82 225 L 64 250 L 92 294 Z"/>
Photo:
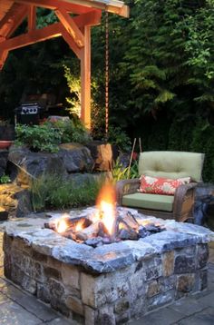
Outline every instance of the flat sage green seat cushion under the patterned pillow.
<path fill-rule="evenodd" d="M 151 209 L 165 212 L 172 212 L 173 202 L 173 195 L 159 195 L 137 192 L 133 194 L 123 195 L 122 197 L 122 205 L 133 208 Z"/>

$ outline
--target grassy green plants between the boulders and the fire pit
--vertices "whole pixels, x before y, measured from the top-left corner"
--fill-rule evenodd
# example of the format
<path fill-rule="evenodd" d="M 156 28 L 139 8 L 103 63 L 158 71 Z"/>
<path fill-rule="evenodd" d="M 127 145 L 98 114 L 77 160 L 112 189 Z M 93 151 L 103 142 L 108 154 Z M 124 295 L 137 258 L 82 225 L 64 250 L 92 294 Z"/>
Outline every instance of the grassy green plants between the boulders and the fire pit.
<path fill-rule="evenodd" d="M 93 205 L 101 187 L 102 179 L 77 185 L 56 175 L 42 176 L 31 184 L 32 205 L 35 212 Z"/>

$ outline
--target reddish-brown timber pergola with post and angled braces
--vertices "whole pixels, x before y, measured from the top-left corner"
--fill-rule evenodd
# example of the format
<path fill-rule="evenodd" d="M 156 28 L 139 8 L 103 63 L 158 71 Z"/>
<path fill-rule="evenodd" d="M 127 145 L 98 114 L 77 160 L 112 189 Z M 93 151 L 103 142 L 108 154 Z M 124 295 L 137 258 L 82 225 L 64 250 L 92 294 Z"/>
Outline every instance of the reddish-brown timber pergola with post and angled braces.
<path fill-rule="evenodd" d="M 58 23 L 38 29 L 37 7 L 53 10 Z M 118 0 L 0 0 L 0 69 L 9 51 L 63 36 L 81 61 L 81 119 L 88 129 L 91 128 L 91 26 L 100 24 L 103 10 L 129 16 L 129 7 Z M 28 23 L 27 32 L 14 36 L 24 19 Z"/>

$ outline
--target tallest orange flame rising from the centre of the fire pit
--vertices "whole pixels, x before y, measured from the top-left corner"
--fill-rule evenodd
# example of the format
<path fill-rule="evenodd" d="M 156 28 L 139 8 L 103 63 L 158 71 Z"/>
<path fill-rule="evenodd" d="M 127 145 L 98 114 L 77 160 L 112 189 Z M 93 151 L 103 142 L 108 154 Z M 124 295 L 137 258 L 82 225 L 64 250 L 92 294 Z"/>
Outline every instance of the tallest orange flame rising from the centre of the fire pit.
<path fill-rule="evenodd" d="M 111 183 L 105 184 L 97 198 L 97 209 L 100 212 L 100 219 L 109 234 L 113 233 L 113 225 L 115 222 L 115 189 Z"/>

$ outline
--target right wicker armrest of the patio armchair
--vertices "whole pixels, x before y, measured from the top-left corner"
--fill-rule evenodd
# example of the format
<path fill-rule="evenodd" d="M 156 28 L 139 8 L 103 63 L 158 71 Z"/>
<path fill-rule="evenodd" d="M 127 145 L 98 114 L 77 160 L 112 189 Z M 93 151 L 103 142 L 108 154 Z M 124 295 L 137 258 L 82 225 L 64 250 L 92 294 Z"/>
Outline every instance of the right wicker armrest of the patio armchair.
<path fill-rule="evenodd" d="M 185 202 L 188 202 L 190 213 L 192 213 L 194 189 L 197 185 L 197 182 L 190 182 L 189 184 L 180 185 L 176 189 L 173 202 L 173 217 L 176 221 L 182 221 L 182 214 L 186 212 Z"/>

